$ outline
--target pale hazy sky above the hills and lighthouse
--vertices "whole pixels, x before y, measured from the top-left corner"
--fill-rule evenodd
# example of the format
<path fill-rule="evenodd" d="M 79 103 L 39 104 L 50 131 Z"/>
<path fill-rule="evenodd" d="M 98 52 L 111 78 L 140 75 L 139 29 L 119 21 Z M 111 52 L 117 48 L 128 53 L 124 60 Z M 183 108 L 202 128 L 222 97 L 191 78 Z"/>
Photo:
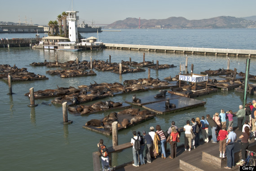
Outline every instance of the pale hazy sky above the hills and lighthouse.
<path fill-rule="evenodd" d="M 70 11 L 71 0 L 0 0 L 0 21 L 47 25 L 63 11 Z M 218 16 L 256 15 L 256 0 L 73 0 L 80 22 L 110 24 L 125 18 L 189 20 Z"/>

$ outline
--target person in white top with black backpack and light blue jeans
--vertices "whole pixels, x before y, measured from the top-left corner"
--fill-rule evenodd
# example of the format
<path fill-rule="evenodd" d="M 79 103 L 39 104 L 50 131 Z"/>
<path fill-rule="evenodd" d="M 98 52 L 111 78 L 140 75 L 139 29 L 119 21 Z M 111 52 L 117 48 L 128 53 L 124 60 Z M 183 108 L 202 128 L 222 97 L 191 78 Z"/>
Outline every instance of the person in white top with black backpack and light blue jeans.
<path fill-rule="evenodd" d="M 133 131 L 132 132 L 133 137 L 131 139 L 131 144 L 132 144 L 132 154 L 133 154 L 133 161 L 134 163 L 132 166 L 139 167 L 139 150 L 141 149 L 141 137 L 137 136 L 137 132 Z"/>

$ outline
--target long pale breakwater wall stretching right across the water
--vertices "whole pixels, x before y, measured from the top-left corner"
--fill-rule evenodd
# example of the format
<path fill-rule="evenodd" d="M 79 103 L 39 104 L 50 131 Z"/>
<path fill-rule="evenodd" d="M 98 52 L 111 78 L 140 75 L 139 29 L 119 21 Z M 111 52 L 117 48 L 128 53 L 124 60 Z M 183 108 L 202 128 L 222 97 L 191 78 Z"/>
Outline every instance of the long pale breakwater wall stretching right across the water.
<path fill-rule="evenodd" d="M 106 48 L 141 50 L 154 52 L 172 52 L 187 54 L 204 54 L 204 55 L 225 55 L 225 56 L 247 56 L 256 57 L 256 50 L 247 49 L 223 49 L 223 48 L 193 48 L 193 47 L 175 47 L 175 46 L 151 46 L 151 45 L 134 45 L 134 44 L 106 44 Z"/>

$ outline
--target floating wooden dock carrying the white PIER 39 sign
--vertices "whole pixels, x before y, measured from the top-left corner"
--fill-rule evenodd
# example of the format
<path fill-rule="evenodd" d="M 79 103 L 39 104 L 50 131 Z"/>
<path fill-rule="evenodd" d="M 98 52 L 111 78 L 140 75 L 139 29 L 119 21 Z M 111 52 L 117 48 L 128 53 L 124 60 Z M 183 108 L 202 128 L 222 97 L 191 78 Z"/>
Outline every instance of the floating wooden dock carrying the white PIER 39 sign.
<path fill-rule="evenodd" d="M 168 93 L 175 94 L 175 95 L 178 95 L 178 96 L 193 98 L 193 97 L 207 95 L 207 94 L 217 92 L 217 91 L 218 91 L 217 88 L 207 88 L 207 90 L 203 89 L 203 90 L 198 90 L 198 91 L 192 91 L 193 92 L 192 94 L 185 94 L 186 90 L 183 90 L 182 92 L 168 91 Z"/>

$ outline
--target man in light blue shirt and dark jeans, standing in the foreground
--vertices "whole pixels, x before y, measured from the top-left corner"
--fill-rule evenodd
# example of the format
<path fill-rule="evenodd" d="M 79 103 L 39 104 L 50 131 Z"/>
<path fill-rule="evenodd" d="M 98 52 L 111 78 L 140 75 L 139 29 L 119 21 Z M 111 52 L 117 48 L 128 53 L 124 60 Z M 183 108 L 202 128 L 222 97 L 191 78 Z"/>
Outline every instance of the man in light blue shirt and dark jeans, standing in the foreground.
<path fill-rule="evenodd" d="M 233 127 L 228 128 L 228 139 L 226 140 L 227 151 L 227 166 L 225 169 L 231 169 L 234 167 L 234 141 L 236 140 L 236 134 L 233 132 Z"/>

